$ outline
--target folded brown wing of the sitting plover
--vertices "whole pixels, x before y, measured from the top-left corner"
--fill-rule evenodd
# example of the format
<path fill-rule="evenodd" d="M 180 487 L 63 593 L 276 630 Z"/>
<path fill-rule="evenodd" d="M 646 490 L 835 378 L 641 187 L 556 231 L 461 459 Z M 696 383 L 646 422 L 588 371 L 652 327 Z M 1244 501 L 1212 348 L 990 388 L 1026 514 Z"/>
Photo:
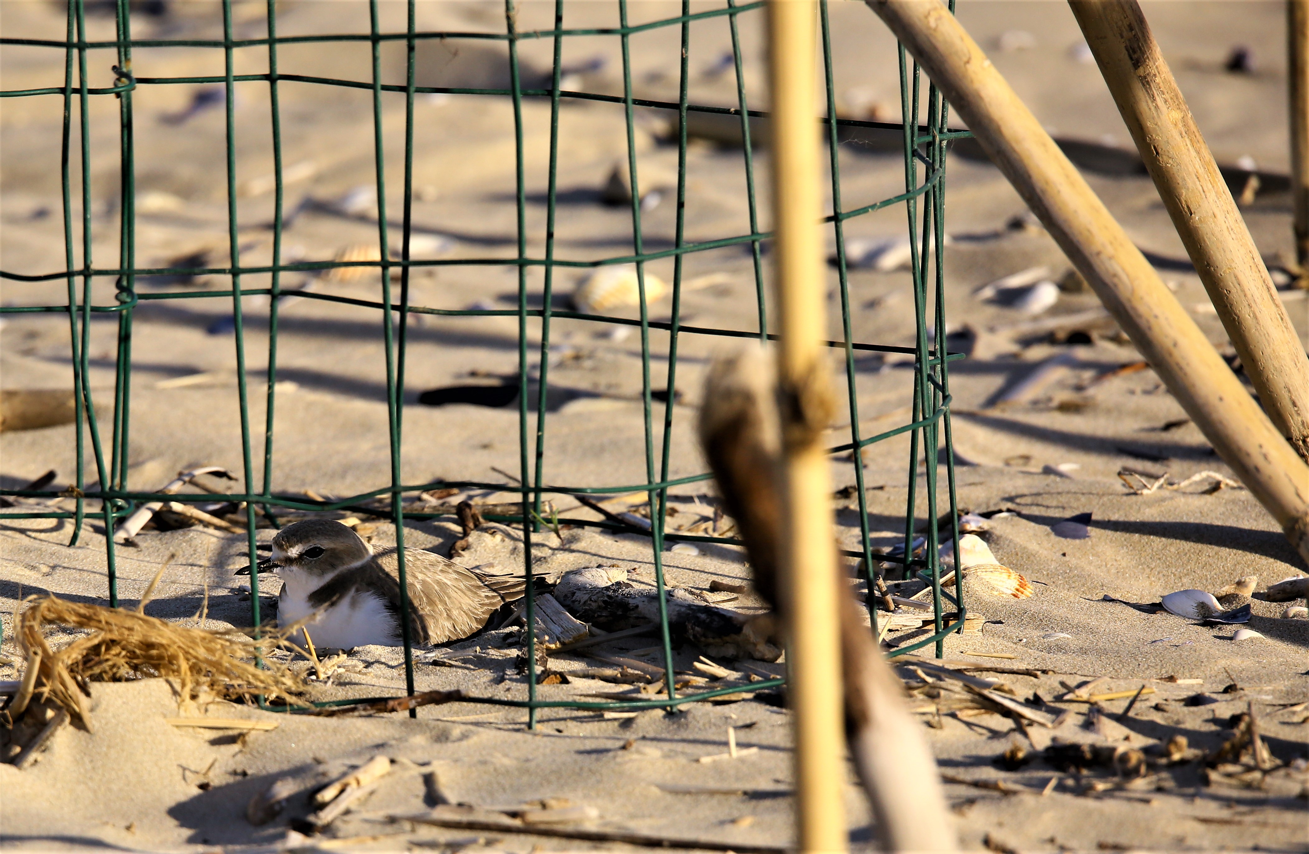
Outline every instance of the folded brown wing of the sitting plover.
<path fill-rule="evenodd" d="M 376 561 L 387 575 L 399 580 L 395 549 L 381 551 Z M 408 582 L 410 613 L 423 643 L 467 638 L 486 626 L 491 614 L 504 604 L 500 593 L 483 584 L 478 575 L 432 551 L 406 549 L 404 578 Z M 395 608 L 398 613 L 398 601 Z"/>

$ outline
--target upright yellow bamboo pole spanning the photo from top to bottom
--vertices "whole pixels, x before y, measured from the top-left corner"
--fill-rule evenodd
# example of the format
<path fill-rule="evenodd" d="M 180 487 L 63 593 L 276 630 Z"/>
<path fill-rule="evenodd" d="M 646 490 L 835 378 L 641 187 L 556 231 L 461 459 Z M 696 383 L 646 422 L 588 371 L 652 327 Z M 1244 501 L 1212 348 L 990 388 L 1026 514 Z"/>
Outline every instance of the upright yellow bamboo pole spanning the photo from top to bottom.
<path fill-rule="evenodd" d="M 781 578 L 796 720 L 796 820 L 802 851 L 846 850 L 836 548 L 822 431 L 835 411 L 821 343 L 826 288 L 814 132 L 817 4 L 768 4 L 778 380 L 783 406 Z"/>

